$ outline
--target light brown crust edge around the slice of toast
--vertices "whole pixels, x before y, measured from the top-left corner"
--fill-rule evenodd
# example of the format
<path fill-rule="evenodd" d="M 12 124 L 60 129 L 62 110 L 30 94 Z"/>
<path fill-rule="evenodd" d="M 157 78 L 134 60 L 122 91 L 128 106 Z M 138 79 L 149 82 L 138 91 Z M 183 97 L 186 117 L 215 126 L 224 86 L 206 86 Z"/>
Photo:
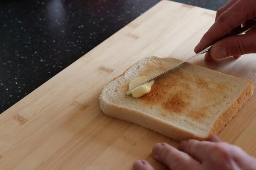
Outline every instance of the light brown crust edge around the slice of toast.
<path fill-rule="evenodd" d="M 176 59 L 179 60 L 179 59 Z M 182 61 L 182 60 L 180 60 Z M 138 63 L 138 62 L 137 62 Z M 134 65 L 136 65 L 135 63 Z M 190 63 L 187 63 L 190 64 Z M 125 73 L 134 65 L 131 65 L 128 69 L 124 71 L 123 74 L 119 75 L 118 77 L 114 78 L 110 82 L 108 82 L 106 86 L 109 85 L 109 83 L 115 81 L 115 79 L 122 77 L 125 75 Z M 190 64 L 193 65 L 193 64 Z M 193 65 L 194 67 L 200 67 L 198 65 Z M 202 69 L 207 69 L 200 67 Z M 208 71 L 212 72 L 218 72 L 214 70 L 207 69 Z M 218 72 L 218 74 L 223 74 Z M 233 77 L 227 74 L 224 74 L 225 76 Z M 236 79 L 241 80 L 241 78 L 233 77 Z M 229 108 L 227 108 L 226 111 L 224 111 L 218 119 L 215 121 L 211 129 L 209 130 L 209 134 L 207 136 L 200 136 L 198 134 L 191 133 L 182 127 L 177 127 L 176 125 L 172 124 L 171 122 L 167 122 L 166 120 L 160 119 L 158 117 L 152 116 L 150 114 L 146 114 L 140 111 L 137 111 L 133 108 L 126 107 L 126 106 L 120 106 L 113 104 L 109 102 L 105 96 L 101 96 L 99 99 L 100 103 L 100 109 L 102 112 L 110 116 L 112 118 L 121 119 L 126 122 L 134 123 L 136 125 L 140 125 L 142 127 L 145 127 L 147 129 L 153 130 L 154 132 L 160 133 L 164 136 L 167 136 L 169 138 L 172 138 L 176 141 L 182 141 L 186 139 L 197 139 L 197 140 L 208 140 L 209 136 L 211 134 L 219 134 L 221 130 L 231 121 L 231 119 L 236 116 L 238 111 L 243 107 L 243 105 L 250 99 L 250 97 L 253 95 L 253 83 L 243 79 L 247 82 L 249 82 L 249 85 L 247 88 L 244 89 L 244 91 L 241 93 L 238 99 L 234 100 L 233 104 L 230 105 Z M 103 88 L 103 90 L 104 90 Z"/>

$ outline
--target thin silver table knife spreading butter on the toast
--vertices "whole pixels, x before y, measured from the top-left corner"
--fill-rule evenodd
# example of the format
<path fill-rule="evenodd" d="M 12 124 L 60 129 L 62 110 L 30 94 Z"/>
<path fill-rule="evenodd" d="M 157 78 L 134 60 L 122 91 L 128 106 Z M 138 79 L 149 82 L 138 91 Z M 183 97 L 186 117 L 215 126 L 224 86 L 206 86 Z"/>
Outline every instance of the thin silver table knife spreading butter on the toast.
<path fill-rule="evenodd" d="M 249 31 L 250 29 L 254 28 L 255 26 L 256 26 L 256 20 L 253 20 L 253 21 L 252 21 L 250 24 L 248 24 L 247 26 L 244 26 L 244 27 L 242 27 L 242 28 L 238 28 L 238 29 L 235 30 L 232 34 L 227 34 L 227 35 L 225 35 L 224 37 L 222 37 L 221 39 L 226 38 L 226 37 L 230 37 L 230 36 L 233 36 L 233 35 L 240 35 L 240 34 L 243 34 L 243 33 L 247 32 L 247 31 Z M 221 39 L 220 39 L 220 40 L 221 40 Z M 178 67 L 179 65 L 183 64 L 184 62 L 189 61 L 189 60 L 192 59 L 192 58 L 197 57 L 197 56 L 200 55 L 200 54 L 204 54 L 204 53 L 206 53 L 207 51 L 210 51 L 211 48 L 212 48 L 212 45 L 208 46 L 208 47 L 205 48 L 203 51 L 199 52 L 198 54 L 195 54 L 194 56 L 190 57 L 189 59 L 186 59 L 186 60 L 184 60 L 183 62 L 178 63 L 177 65 L 173 66 L 172 68 L 169 68 L 168 70 L 163 71 L 162 73 L 160 73 L 160 74 L 158 74 L 158 75 L 152 77 L 151 79 L 148 79 L 147 81 L 141 83 L 140 85 L 143 85 L 143 84 L 145 84 L 146 82 L 149 82 L 149 81 L 151 81 L 151 80 L 153 80 L 153 79 L 155 79 L 155 78 L 157 78 L 157 77 L 159 77 L 159 76 L 165 74 L 166 72 L 168 72 L 168 71 L 170 71 L 170 70 L 172 70 L 172 69 Z M 137 88 L 137 87 L 139 87 L 140 85 L 137 85 L 137 86 L 134 87 L 134 88 Z M 128 90 L 128 91 L 131 91 L 131 90 L 133 90 L 134 88 L 131 88 L 131 89 Z M 127 92 L 128 92 L 128 91 L 127 91 Z"/>

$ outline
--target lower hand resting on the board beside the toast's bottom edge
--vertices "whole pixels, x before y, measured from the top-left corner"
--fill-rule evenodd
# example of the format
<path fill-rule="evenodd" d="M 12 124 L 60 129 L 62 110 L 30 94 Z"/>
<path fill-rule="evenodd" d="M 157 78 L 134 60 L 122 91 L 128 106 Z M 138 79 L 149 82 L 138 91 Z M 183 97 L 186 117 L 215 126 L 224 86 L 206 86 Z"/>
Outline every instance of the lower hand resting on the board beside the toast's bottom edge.
<path fill-rule="evenodd" d="M 155 144 L 153 156 L 170 170 L 256 170 L 256 158 L 241 148 L 221 142 L 212 135 L 209 141 L 188 140 L 179 150 L 166 143 Z M 154 170 L 145 160 L 136 161 L 133 170 Z"/>

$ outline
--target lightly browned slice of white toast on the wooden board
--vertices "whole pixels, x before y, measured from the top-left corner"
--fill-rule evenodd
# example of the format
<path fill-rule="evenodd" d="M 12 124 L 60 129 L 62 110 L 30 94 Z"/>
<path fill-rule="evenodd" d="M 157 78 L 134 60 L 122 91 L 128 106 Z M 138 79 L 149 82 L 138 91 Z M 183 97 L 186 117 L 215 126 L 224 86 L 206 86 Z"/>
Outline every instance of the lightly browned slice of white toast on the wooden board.
<path fill-rule="evenodd" d="M 148 94 L 126 94 L 133 78 L 154 77 L 179 62 L 152 56 L 135 63 L 105 85 L 101 110 L 176 141 L 218 134 L 252 96 L 252 82 L 185 62 L 155 79 Z"/>

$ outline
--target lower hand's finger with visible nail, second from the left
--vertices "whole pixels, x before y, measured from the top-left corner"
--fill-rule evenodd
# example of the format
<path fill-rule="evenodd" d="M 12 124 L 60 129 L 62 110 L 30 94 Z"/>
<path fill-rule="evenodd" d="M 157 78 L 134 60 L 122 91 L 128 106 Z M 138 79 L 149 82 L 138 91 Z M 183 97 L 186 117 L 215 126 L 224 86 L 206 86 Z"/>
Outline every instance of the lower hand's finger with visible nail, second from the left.
<path fill-rule="evenodd" d="M 199 166 L 199 162 L 191 156 L 166 143 L 156 144 L 152 153 L 155 159 L 166 164 L 171 170 L 198 169 Z"/>

